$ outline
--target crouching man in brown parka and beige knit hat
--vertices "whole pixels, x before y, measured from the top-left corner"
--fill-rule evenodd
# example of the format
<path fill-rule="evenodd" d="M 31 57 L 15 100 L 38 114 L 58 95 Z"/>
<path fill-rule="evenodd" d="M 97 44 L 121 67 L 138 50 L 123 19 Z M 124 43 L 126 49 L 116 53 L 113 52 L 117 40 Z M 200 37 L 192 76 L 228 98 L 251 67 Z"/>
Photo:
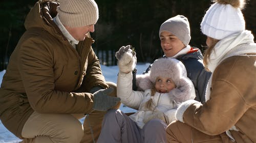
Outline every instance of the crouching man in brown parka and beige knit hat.
<path fill-rule="evenodd" d="M 89 114 L 97 137 L 104 111 L 120 105 L 91 47 L 97 20 L 93 0 L 38 1 L 27 15 L 0 89 L 0 119 L 23 142 L 90 141 L 78 119 Z"/>

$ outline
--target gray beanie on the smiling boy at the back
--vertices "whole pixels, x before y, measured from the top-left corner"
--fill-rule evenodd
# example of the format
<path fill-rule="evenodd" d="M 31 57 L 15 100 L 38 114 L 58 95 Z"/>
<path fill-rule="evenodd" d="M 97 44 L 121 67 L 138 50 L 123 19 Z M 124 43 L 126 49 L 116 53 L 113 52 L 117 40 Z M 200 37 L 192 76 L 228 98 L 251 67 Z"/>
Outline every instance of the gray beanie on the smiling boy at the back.
<path fill-rule="evenodd" d="M 177 15 L 163 22 L 160 26 L 159 37 L 163 31 L 174 34 L 185 46 L 188 45 L 191 39 L 189 22 L 183 15 Z"/>

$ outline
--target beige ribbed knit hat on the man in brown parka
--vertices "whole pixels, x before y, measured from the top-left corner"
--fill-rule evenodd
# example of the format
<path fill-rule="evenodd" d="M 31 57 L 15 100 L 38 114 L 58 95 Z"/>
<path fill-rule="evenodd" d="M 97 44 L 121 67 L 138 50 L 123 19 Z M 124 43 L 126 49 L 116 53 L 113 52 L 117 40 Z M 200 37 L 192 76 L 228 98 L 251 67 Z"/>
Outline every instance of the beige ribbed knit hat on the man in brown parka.
<path fill-rule="evenodd" d="M 96 24 L 99 18 L 94 0 L 59 0 L 57 12 L 61 23 L 70 27 Z"/>

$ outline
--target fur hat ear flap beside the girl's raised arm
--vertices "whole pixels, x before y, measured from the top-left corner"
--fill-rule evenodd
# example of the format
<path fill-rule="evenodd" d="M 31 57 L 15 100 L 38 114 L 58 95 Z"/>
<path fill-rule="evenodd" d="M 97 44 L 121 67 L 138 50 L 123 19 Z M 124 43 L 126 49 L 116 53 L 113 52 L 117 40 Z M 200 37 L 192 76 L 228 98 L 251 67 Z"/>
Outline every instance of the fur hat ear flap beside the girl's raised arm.
<path fill-rule="evenodd" d="M 136 86 L 138 91 L 145 91 L 147 89 L 152 89 L 154 84 L 150 80 L 150 74 L 136 75 Z"/>

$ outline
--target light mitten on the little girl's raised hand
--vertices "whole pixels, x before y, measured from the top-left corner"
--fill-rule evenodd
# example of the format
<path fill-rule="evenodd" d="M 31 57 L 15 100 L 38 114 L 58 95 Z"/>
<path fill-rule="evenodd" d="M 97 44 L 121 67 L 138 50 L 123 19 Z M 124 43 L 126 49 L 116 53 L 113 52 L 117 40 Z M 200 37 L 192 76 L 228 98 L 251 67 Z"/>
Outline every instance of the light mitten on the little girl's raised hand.
<path fill-rule="evenodd" d="M 131 72 L 137 62 L 136 52 L 131 49 L 130 45 L 122 46 L 116 52 L 116 59 L 118 60 L 117 65 L 119 67 L 119 71 L 123 73 Z"/>

